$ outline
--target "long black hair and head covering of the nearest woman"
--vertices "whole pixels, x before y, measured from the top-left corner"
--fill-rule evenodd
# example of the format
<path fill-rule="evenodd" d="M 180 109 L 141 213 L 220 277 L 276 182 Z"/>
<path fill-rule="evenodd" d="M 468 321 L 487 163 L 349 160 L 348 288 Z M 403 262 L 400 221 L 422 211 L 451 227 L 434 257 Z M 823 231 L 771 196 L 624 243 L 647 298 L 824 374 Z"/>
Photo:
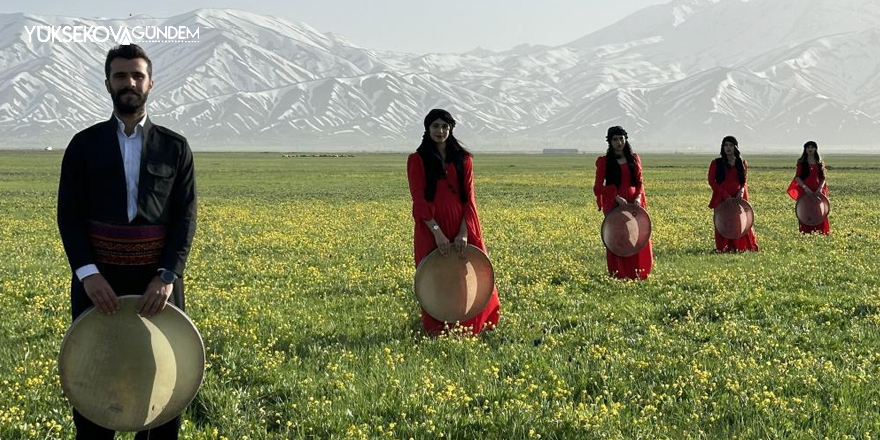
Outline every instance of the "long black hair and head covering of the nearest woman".
<path fill-rule="evenodd" d="M 449 124 L 449 137 L 446 138 L 446 163 L 455 166 L 455 172 L 458 174 L 458 187 L 461 188 L 458 195 L 462 203 L 467 203 L 470 194 L 464 182 L 464 158 L 472 157 L 473 154 L 466 150 L 452 134 L 452 129 L 455 128 L 455 119 L 452 118 L 452 114 L 436 108 L 425 116 L 425 133 L 422 134 L 422 143 L 416 149 L 416 153 L 422 158 L 422 163 L 425 166 L 425 200 L 434 201 L 434 196 L 437 195 L 437 181 L 447 177 L 443 158 L 440 156 L 440 151 L 437 150 L 437 143 L 431 139 L 428 128 L 437 119 Z"/>

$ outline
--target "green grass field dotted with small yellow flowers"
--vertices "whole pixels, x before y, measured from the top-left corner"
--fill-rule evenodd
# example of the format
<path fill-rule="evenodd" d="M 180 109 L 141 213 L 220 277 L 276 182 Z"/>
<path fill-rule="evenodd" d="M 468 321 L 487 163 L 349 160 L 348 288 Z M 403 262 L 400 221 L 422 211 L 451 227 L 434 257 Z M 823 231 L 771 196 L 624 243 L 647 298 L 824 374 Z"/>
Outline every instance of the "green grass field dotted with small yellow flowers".
<path fill-rule="evenodd" d="M 880 437 L 880 159 L 825 158 L 824 237 L 797 232 L 796 157 L 747 157 L 761 252 L 740 255 L 712 252 L 710 159 L 643 158 L 638 283 L 605 274 L 594 156 L 478 155 L 500 326 L 427 339 L 404 155 L 197 154 L 185 275 L 209 365 L 182 438 Z M 60 161 L 0 153 L 3 440 L 73 438 Z"/>

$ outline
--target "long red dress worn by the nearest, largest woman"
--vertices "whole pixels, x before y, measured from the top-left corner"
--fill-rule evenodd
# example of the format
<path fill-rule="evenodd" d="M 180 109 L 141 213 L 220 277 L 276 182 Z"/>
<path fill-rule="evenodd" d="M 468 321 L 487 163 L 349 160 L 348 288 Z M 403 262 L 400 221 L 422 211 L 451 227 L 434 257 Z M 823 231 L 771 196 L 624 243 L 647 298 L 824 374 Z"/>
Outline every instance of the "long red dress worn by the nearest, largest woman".
<path fill-rule="evenodd" d="M 467 203 L 462 203 L 459 198 L 458 172 L 455 165 L 444 164 L 446 178 L 437 181 L 437 192 L 434 201 L 425 200 L 425 166 L 422 157 L 418 153 L 409 155 L 406 161 L 406 175 L 409 180 L 409 192 L 413 199 L 413 218 L 415 219 L 415 242 L 414 254 L 416 267 L 422 258 L 428 256 L 437 247 L 434 234 L 425 225 L 425 220 L 434 219 L 443 234 L 453 241 L 461 228 L 461 220 L 464 217 L 468 228 L 468 244 L 472 244 L 483 252 L 486 245 L 483 243 L 483 234 L 480 230 L 480 218 L 477 215 L 477 202 L 474 198 L 474 173 L 473 162 L 470 157 L 464 158 L 463 164 L 464 184 L 468 188 L 470 198 Z M 487 252 L 488 253 L 488 252 Z M 492 297 L 486 307 L 475 317 L 462 322 L 461 326 L 469 327 L 473 334 L 478 334 L 484 328 L 493 328 L 498 324 L 498 310 L 501 307 L 498 301 L 498 289 L 492 291 Z M 430 335 L 439 334 L 447 323 L 438 321 L 422 309 L 422 325 Z"/>

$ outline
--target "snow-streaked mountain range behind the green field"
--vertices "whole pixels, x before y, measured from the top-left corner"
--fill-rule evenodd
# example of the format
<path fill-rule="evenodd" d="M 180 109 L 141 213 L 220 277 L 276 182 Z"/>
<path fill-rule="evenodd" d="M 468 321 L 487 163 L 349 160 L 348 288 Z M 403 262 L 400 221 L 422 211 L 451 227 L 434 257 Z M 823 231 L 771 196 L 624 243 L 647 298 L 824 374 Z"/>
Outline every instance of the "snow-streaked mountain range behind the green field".
<path fill-rule="evenodd" d="M 431 108 L 477 150 L 876 144 L 876 0 L 673 0 L 557 47 L 404 54 L 234 10 L 170 18 L 0 14 L 0 147 L 64 146 L 109 117 L 115 43 L 41 43 L 25 27 L 186 26 L 197 43 L 144 43 L 149 112 L 196 149 L 411 149 Z"/>

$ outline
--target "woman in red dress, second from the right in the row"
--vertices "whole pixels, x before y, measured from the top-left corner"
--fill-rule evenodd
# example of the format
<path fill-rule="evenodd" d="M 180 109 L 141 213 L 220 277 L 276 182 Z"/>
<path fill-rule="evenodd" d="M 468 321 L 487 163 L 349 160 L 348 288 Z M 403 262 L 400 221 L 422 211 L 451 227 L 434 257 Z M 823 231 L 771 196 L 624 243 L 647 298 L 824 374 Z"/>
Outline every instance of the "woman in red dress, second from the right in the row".
<path fill-rule="evenodd" d="M 726 199 L 737 197 L 749 200 L 749 187 L 746 184 L 749 164 L 739 157 L 739 142 L 733 136 L 725 136 L 721 141 L 721 157 L 709 165 L 709 186 L 712 187 L 712 200 L 709 208 L 715 209 Z M 724 238 L 715 230 L 715 250 L 717 252 L 758 251 L 755 231 L 735 240 Z"/>

